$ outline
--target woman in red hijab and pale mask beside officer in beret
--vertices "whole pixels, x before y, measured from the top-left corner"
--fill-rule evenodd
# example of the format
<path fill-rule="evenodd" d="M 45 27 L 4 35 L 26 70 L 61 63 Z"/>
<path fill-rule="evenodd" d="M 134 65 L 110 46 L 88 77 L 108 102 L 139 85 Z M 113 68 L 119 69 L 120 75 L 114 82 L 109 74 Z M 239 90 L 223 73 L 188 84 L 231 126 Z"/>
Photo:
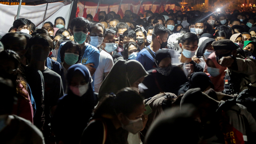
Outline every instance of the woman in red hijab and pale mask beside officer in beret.
<path fill-rule="evenodd" d="M 222 92 L 222 90 L 224 90 L 223 80 L 226 74 L 226 67 L 220 66 L 220 64 L 217 63 L 214 52 L 208 56 L 206 64 L 208 66 L 207 71 L 210 74 L 210 80 L 214 85 L 214 90 L 216 92 Z"/>

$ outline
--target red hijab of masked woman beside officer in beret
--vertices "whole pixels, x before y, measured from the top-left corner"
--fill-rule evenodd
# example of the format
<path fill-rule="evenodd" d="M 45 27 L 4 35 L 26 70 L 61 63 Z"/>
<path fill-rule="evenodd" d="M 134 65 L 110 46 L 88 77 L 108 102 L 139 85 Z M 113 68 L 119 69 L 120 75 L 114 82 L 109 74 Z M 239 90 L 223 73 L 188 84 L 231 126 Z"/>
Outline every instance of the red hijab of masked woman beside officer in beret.
<path fill-rule="evenodd" d="M 217 63 L 216 58 L 215 58 L 215 52 L 210 54 L 208 59 L 211 59 L 212 62 L 214 63 L 214 65 L 216 66 L 216 68 L 219 69 L 220 74 L 216 77 L 210 76 L 210 80 L 212 81 L 212 83 L 214 85 L 214 90 L 216 92 L 221 92 L 222 90 L 224 90 L 224 77 L 226 74 L 226 72 L 225 72 L 226 67 L 223 67 Z"/>

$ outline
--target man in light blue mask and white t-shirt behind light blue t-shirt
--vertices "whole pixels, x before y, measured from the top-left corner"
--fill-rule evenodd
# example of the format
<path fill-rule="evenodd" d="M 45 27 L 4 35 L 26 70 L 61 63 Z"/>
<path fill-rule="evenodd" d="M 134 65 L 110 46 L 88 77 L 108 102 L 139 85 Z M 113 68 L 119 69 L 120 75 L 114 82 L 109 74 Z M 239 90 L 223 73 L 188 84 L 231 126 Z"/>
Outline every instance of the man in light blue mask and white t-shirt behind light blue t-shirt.
<path fill-rule="evenodd" d="M 114 65 L 113 58 L 110 54 L 100 48 L 103 43 L 104 34 L 106 32 L 104 26 L 100 23 L 93 24 L 89 29 L 88 42 L 100 51 L 100 63 L 94 75 L 94 92 L 99 92 L 100 85 L 104 78 L 108 75 Z"/>

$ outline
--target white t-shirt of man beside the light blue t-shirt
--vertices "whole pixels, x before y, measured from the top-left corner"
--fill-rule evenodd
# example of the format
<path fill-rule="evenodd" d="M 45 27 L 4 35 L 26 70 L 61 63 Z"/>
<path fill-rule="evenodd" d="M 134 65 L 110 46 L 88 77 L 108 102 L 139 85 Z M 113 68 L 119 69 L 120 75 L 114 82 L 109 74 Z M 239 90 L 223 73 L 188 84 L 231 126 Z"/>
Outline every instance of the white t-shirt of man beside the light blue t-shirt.
<path fill-rule="evenodd" d="M 114 65 L 113 58 L 110 54 L 102 50 L 100 52 L 100 63 L 94 73 L 94 92 L 99 92 L 100 85 L 104 80 L 104 72 L 109 72 Z"/>

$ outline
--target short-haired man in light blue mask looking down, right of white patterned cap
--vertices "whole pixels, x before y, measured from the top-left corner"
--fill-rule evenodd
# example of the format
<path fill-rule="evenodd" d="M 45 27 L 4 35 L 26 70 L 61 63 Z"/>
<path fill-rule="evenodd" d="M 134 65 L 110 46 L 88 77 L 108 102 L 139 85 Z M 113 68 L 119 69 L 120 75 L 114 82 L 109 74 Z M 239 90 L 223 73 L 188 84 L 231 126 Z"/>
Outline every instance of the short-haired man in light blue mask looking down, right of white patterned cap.
<path fill-rule="evenodd" d="M 180 62 L 184 63 L 184 72 L 189 77 L 193 72 L 203 72 L 202 66 L 192 60 L 198 48 L 198 38 L 196 34 L 186 33 L 180 37 L 180 47 L 182 53 L 180 56 Z"/>

